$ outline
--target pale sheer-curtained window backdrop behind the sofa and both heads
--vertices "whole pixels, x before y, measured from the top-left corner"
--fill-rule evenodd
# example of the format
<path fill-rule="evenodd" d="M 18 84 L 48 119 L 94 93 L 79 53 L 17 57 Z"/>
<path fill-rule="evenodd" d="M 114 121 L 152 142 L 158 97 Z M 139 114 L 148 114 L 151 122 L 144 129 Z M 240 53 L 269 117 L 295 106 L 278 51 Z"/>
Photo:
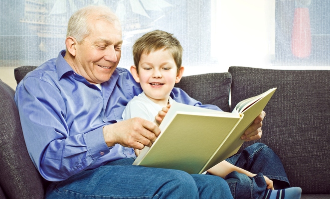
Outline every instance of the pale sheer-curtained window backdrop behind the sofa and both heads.
<path fill-rule="evenodd" d="M 0 79 L 14 82 L 12 68 L 56 57 L 69 16 L 87 4 L 120 17 L 121 67 L 133 64 L 135 40 L 154 29 L 181 42 L 184 75 L 330 66 L 330 0 L 1 0 Z"/>

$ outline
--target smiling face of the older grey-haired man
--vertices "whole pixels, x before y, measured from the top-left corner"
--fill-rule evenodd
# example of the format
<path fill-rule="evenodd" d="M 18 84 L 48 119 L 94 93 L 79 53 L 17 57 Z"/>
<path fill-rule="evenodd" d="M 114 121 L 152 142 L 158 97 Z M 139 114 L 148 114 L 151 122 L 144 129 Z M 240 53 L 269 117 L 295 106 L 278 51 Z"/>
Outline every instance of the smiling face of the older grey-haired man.
<path fill-rule="evenodd" d="M 91 34 L 76 44 L 75 71 L 91 84 L 101 84 L 115 71 L 122 46 L 121 28 L 104 20 L 90 21 Z"/>

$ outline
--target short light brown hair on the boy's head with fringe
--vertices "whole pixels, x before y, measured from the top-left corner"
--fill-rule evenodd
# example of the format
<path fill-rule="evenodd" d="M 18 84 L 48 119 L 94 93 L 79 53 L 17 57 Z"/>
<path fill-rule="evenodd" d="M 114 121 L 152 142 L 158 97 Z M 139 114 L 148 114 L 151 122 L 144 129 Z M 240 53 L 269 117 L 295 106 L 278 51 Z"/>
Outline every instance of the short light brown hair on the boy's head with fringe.
<path fill-rule="evenodd" d="M 147 55 L 157 50 L 169 50 L 172 54 L 174 62 L 176 64 L 176 71 L 178 72 L 182 64 L 183 48 L 180 42 L 168 32 L 163 30 L 154 30 L 146 33 L 133 45 L 133 58 L 136 70 L 139 73 L 139 62 L 141 55 L 146 53 Z"/>

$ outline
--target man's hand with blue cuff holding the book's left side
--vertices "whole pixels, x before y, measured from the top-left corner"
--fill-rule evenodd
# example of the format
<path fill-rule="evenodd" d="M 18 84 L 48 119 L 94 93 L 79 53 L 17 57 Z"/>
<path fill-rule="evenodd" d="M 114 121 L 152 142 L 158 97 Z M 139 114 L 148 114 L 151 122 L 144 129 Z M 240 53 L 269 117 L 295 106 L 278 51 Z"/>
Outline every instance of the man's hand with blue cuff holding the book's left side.
<path fill-rule="evenodd" d="M 125 147 L 143 149 L 151 146 L 161 130 L 154 122 L 135 117 L 103 127 L 107 146 L 120 144 Z"/>

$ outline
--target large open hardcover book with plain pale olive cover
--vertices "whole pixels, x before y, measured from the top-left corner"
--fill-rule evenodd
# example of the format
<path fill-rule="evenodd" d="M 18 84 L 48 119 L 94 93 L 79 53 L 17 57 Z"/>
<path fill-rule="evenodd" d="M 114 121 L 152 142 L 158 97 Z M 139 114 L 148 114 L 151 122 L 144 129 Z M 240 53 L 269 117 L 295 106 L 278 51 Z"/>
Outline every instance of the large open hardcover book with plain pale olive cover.
<path fill-rule="evenodd" d="M 240 137 L 275 90 L 239 102 L 231 113 L 173 102 L 160 125 L 162 133 L 133 165 L 203 173 L 237 153 L 244 142 Z"/>

